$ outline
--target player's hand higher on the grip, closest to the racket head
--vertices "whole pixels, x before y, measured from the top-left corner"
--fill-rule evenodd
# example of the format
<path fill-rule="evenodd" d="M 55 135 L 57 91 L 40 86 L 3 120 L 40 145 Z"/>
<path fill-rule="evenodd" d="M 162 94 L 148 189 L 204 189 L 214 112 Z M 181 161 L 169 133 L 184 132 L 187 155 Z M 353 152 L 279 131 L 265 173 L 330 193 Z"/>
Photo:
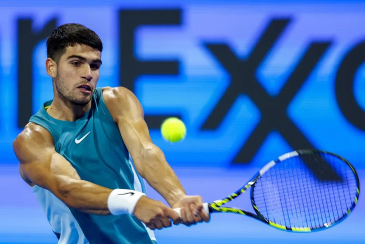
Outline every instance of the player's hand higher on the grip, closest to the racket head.
<path fill-rule="evenodd" d="M 200 196 L 184 196 L 172 208 L 177 207 L 181 208 L 181 223 L 186 226 L 210 220 L 210 214 L 205 213 Z"/>

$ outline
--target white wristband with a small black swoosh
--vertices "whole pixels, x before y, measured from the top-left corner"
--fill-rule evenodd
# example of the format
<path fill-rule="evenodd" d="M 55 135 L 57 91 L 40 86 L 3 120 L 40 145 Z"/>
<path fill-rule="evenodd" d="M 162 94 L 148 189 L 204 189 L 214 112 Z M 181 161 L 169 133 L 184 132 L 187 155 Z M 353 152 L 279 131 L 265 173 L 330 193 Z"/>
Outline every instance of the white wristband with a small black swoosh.
<path fill-rule="evenodd" d="M 142 196 L 143 192 L 128 190 L 128 189 L 114 189 L 108 197 L 108 209 L 113 215 L 131 214 L 133 215 L 134 208 Z"/>

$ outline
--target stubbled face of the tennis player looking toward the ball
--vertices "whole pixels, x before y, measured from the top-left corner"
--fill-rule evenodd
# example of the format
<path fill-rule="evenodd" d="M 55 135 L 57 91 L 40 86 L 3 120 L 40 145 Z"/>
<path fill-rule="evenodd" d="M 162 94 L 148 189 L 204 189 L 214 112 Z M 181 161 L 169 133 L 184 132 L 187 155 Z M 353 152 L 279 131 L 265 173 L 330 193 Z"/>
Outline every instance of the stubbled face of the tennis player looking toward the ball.
<path fill-rule="evenodd" d="M 79 106 L 88 104 L 99 80 L 101 53 L 87 45 L 67 47 L 57 64 L 58 94 Z"/>

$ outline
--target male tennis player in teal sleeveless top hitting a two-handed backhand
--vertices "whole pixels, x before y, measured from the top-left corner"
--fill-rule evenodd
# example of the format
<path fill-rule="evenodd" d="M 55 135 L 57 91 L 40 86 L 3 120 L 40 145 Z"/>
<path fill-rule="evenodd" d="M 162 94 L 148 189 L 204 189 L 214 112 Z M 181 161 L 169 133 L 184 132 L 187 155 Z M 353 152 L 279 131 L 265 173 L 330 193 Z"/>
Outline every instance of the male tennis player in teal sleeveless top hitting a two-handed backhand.
<path fill-rule="evenodd" d="M 53 100 L 33 115 L 13 147 L 59 243 L 156 243 L 154 229 L 207 222 L 151 141 L 138 99 L 96 88 L 103 43 L 80 24 L 47 39 Z M 144 180 L 169 206 L 146 196 Z M 181 218 L 173 208 L 181 207 Z"/>

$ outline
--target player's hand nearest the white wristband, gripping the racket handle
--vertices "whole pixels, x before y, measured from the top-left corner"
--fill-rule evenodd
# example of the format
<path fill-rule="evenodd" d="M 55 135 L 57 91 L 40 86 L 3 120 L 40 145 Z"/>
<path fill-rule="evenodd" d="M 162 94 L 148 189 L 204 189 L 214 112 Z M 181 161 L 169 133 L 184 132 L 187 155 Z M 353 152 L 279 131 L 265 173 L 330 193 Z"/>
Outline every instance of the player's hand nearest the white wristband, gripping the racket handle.
<path fill-rule="evenodd" d="M 160 201 L 148 197 L 141 197 L 134 208 L 134 216 L 141 220 L 151 230 L 162 229 L 180 223 L 180 217 L 175 210 Z"/>

